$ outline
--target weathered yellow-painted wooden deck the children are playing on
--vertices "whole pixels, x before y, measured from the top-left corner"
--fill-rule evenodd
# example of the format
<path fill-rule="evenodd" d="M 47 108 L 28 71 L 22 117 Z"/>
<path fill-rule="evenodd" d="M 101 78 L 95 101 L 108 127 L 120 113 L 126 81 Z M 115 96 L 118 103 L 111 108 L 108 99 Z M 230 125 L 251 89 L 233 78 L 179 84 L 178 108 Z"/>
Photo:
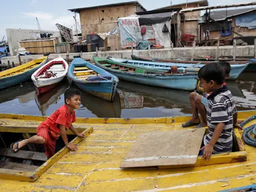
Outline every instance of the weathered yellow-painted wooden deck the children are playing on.
<path fill-rule="evenodd" d="M 240 113 L 239 119 L 251 115 L 256 115 L 256 111 Z M 5 115 L 5 117 L 11 116 Z M 31 133 L 43 120 L 42 117 L 33 117 L 33 120 L 25 121 L 27 117 L 23 116 L 20 117 L 23 119 L 15 119 L 14 122 L 8 118 L 3 118 L 0 114 L 0 120 L 7 122 L 11 131 L 22 129 L 22 131 L 30 130 Z M 34 183 L 0 180 L 1 189 L 2 191 L 222 191 L 256 183 L 256 148 L 248 145 L 245 145 L 248 155 L 245 162 L 176 169 L 120 169 L 120 163 L 138 135 L 148 131 L 182 129 L 181 122 L 188 118 L 78 119 L 76 127 L 94 128 L 94 132 L 78 144 L 78 151 L 64 155 Z M 173 121 L 176 123 L 172 123 Z M 252 123 L 256 121 L 248 125 Z M 4 130 L 6 128 L 3 129 L 3 125 L 0 125 L 0 132 Z"/>

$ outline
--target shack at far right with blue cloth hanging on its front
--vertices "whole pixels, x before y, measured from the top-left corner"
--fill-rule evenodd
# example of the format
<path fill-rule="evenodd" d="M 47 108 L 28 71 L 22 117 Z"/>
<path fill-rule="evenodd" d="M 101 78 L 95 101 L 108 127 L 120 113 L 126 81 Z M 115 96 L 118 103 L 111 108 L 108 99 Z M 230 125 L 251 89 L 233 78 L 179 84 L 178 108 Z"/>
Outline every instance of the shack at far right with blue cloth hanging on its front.
<path fill-rule="evenodd" d="M 199 23 L 199 40 L 221 39 L 223 45 L 231 45 L 235 38 L 253 45 L 256 36 L 255 19 L 255 8 L 209 11 L 202 16 L 202 22 Z"/>

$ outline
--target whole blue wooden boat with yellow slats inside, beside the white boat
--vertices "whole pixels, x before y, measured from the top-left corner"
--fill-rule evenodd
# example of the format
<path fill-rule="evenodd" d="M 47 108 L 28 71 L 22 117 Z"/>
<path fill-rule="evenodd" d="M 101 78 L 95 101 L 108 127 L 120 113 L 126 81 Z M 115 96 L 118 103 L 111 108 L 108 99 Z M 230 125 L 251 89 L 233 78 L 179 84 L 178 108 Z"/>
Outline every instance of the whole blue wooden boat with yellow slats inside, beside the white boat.
<path fill-rule="evenodd" d="M 118 77 L 81 58 L 72 61 L 68 77 L 83 91 L 108 101 L 113 100 L 119 81 Z"/>

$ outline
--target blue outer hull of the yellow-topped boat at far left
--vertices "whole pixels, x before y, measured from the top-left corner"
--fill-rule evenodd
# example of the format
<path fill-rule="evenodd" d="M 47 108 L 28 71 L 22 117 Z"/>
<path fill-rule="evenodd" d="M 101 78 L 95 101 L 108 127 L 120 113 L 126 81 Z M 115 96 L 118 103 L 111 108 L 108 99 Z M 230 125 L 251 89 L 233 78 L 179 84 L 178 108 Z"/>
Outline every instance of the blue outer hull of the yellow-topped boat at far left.
<path fill-rule="evenodd" d="M 31 79 L 31 75 L 37 69 L 39 69 L 41 66 L 45 65 L 46 62 L 47 62 L 47 59 L 45 59 L 43 62 L 41 62 L 40 65 L 37 65 L 37 67 L 33 67 L 32 69 L 29 69 L 23 73 L 19 73 L 17 75 L 12 75 L 9 77 L 0 78 L 0 89 L 5 89 L 7 87 L 17 85 L 19 83 L 23 83 L 24 81 L 29 81 L 29 79 Z M 23 64 L 23 65 L 25 65 L 25 64 Z"/>

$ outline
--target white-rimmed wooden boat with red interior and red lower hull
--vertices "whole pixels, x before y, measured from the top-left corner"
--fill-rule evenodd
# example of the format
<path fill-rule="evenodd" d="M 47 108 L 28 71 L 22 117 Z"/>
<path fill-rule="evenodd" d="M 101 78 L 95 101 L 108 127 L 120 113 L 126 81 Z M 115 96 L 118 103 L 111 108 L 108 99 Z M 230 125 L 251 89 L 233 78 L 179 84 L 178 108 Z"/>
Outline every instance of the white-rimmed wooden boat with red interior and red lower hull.
<path fill-rule="evenodd" d="M 53 89 L 68 73 L 68 63 L 61 57 L 57 57 L 41 66 L 31 79 L 37 88 L 37 95 L 41 95 Z"/>

